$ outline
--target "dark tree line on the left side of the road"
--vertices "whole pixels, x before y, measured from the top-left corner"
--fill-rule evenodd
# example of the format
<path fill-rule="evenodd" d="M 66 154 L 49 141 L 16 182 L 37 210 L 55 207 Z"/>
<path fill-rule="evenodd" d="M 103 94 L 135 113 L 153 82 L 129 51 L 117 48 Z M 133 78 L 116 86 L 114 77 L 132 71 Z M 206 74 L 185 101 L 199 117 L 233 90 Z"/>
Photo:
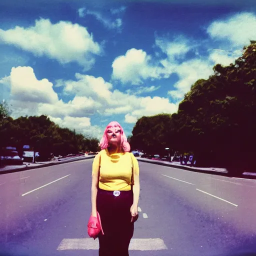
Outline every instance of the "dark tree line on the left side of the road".
<path fill-rule="evenodd" d="M 50 153 L 64 156 L 79 151 L 99 150 L 97 138 L 62 128 L 46 115 L 20 116 L 13 119 L 10 112 L 6 102 L 0 103 L 1 149 L 5 146 L 14 146 L 22 155 L 23 145 L 29 145 L 34 151 L 39 152 L 41 160 L 47 159 Z"/>

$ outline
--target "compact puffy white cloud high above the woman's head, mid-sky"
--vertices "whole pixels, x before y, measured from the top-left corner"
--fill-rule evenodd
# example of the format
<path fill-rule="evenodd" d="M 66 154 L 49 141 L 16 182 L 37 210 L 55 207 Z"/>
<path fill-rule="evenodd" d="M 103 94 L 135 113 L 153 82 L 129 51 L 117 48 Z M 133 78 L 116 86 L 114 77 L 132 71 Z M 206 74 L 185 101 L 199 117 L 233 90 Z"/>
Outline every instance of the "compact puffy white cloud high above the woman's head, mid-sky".
<path fill-rule="evenodd" d="M 147 78 L 159 78 L 161 68 L 150 64 L 151 56 L 141 49 L 129 49 L 112 63 L 112 78 L 122 83 L 141 84 Z"/>

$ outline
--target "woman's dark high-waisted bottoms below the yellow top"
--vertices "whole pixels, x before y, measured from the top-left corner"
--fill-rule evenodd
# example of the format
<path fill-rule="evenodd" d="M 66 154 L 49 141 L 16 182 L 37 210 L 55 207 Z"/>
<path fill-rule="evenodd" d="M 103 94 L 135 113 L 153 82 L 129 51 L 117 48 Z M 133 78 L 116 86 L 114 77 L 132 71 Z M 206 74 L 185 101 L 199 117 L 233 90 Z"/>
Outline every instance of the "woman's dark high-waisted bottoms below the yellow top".
<path fill-rule="evenodd" d="M 120 191 L 114 196 L 113 191 L 98 188 L 97 211 L 101 218 L 104 235 L 99 234 L 99 256 L 128 256 L 128 247 L 133 235 L 134 224 L 130 222 L 130 206 L 133 193 Z"/>

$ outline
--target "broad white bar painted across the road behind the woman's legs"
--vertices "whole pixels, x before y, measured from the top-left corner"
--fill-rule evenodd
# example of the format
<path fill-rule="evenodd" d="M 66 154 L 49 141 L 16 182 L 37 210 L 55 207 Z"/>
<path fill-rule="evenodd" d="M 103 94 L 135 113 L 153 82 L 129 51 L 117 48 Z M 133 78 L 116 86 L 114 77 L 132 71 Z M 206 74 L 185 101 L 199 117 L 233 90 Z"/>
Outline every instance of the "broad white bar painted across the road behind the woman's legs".
<path fill-rule="evenodd" d="M 93 238 L 70 238 L 63 239 L 57 250 L 97 250 L 98 239 Z M 167 246 L 160 238 L 132 238 L 129 250 L 167 250 Z"/>

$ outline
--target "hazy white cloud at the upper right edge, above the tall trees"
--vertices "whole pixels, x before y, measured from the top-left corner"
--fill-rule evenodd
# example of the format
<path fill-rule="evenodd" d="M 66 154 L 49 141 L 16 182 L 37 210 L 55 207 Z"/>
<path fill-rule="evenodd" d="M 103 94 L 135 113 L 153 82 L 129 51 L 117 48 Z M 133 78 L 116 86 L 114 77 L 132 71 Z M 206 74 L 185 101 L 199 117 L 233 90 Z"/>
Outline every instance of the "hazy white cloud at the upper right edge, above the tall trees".
<path fill-rule="evenodd" d="M 216 20 L 207 28 L 208 34 L 214 39 L 224 39 L 233 46 L 248 45 L 249 40 L 256 38 L 256 15 L 242 12 L 225 20 Z"/>

